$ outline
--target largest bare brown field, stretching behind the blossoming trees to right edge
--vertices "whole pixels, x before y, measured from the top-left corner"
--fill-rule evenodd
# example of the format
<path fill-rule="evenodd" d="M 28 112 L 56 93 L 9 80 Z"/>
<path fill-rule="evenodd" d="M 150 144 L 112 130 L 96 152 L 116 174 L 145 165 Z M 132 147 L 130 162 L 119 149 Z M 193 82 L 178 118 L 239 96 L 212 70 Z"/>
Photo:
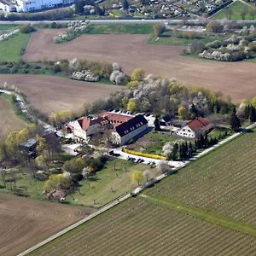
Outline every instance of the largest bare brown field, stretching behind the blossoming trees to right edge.
<path fill-rule="evenodd" d="M 221 62 L 180 55 L 181 46 L 147 44 L 148 35 L 83 35 L 65 44 L 55 44 L 58 30 L 32 34 L 25 61 L 86 58 L 117 61 L 126 73 L 143 67 L 148 73 L 176 78 L 185 84 L 221 91 L 234 102 L 256 95 L 256 65 L 252 62 Z"/>

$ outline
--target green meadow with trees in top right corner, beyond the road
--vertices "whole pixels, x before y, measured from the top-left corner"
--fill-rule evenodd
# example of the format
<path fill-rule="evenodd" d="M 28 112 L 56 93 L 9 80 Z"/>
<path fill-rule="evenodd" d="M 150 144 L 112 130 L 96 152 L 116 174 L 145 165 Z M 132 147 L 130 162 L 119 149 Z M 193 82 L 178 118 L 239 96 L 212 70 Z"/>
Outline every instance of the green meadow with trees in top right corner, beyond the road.
<path fill-rule="evenodd" d="M 243 9 L 247 10 L 245 20 L 253 20 L 253 15 L 251 15 L 250 12 L 252 11 L 252 9 L 255 9 L 255 7 L 253 7 L 250 4 L 245 4 L 241 3 L 241 1 L 236 1 L 230 5 L 230 9 L 232 10 L 231 20 L 241 20 L 241 10 Z M 213 15 L 212 18 L 215 20 L 227 19 L 225 10 L 222 9 L 216 15 Z"/>

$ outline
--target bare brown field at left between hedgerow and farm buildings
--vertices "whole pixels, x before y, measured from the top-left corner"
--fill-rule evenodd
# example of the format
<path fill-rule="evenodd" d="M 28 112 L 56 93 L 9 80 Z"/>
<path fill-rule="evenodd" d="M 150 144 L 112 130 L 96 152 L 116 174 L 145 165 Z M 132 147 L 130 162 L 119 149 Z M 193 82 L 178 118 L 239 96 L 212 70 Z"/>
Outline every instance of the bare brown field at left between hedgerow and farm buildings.
<path fill-rule="evenodd" d="M 44 75 L 0 75 L 0 84 L 4 82 L 15 84 L 32 106 L 49 115 L 63 109 L 78 111 L 84 102 L 108 98 L 122 88 Z"/>

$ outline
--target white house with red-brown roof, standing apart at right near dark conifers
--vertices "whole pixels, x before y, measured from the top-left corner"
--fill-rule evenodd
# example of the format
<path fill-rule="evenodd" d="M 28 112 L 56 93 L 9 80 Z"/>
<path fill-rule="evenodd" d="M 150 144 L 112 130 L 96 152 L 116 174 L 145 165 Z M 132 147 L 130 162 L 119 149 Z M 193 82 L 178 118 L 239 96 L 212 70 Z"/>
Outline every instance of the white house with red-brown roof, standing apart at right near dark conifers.
<path fill-rule="evenodd" d="M 213 125 L 207 119 L 197 117 L 187 125 L 183 125 L 175 133 L 181 137 L 195 138 L 212 131 L 212 128 Z"/>

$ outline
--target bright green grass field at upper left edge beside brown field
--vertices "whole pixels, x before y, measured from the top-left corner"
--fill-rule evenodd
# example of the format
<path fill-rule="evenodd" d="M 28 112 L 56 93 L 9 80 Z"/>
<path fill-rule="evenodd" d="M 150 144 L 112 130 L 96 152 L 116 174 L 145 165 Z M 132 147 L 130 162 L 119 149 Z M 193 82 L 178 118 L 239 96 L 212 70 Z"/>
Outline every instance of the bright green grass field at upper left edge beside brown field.
<path fill-rule="evenodd" d="M 18 32 L 7 40 L 0 41 L 0 61 L 20 61 L 29 37 L 30 34 Z"/>

